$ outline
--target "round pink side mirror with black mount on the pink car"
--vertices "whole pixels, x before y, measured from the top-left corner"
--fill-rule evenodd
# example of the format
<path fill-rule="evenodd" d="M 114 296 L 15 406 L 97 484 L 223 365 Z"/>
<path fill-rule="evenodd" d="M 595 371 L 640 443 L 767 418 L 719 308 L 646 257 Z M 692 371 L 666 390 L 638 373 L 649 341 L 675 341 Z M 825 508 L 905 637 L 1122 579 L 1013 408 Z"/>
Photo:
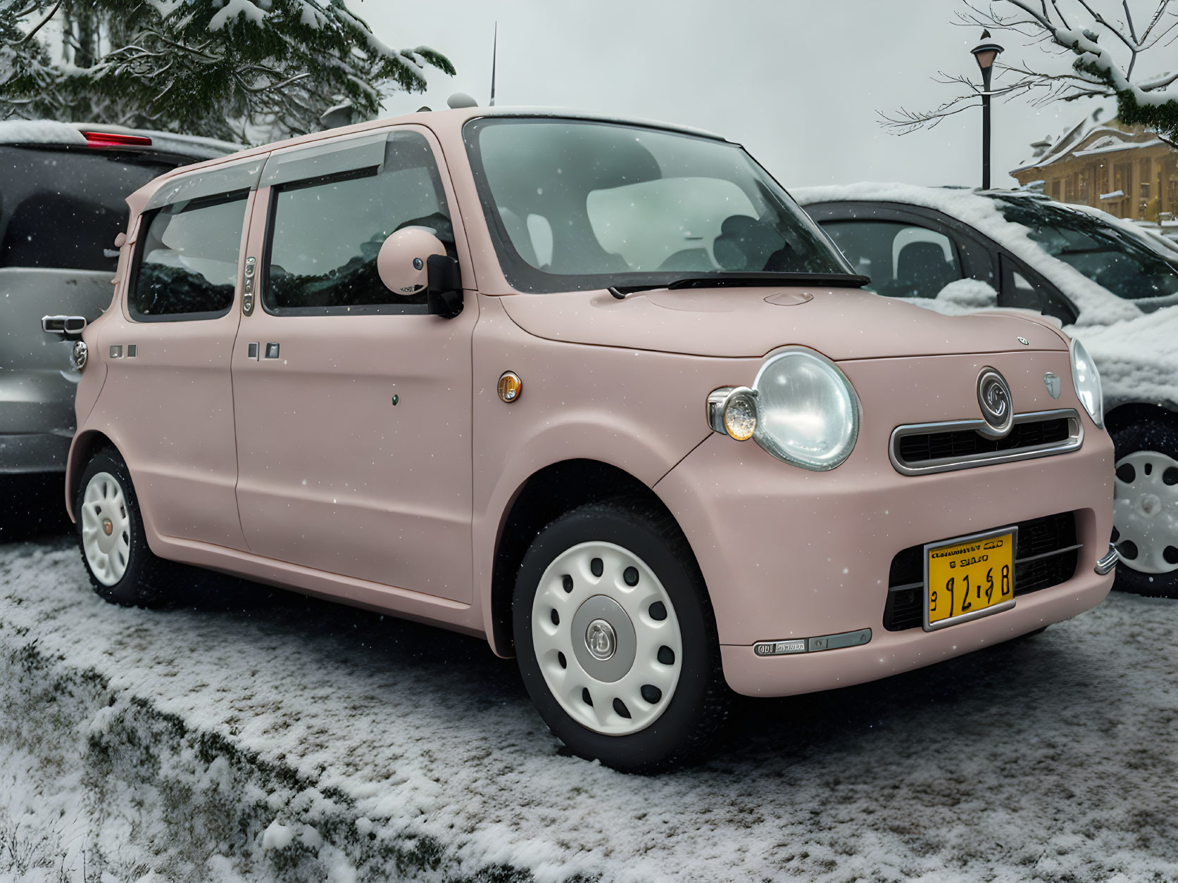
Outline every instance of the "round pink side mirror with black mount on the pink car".
<path fill-rule="evenodd" d="M 425 227 L 405 227 L 385 239 L 376 255 L 376 268 L 393 294 L 411 297 L 425 291 L 431 316 L 452 319 L 462 312 L 458 261 Z"/>

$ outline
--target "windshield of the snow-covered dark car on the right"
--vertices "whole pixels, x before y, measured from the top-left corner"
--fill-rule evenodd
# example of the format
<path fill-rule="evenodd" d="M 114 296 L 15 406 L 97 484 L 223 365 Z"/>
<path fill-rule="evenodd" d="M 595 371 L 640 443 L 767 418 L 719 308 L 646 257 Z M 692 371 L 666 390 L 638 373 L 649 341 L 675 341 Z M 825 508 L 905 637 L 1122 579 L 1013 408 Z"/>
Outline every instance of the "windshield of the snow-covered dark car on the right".
<path fill-rule="evenodd" d="M 1178 260 L 1167 260 L 1132 232 L 1039 200 L 995 197 L 995 203 L 1047 254 L 1113 294 L 1129 300 L 1178 294 Z"/>

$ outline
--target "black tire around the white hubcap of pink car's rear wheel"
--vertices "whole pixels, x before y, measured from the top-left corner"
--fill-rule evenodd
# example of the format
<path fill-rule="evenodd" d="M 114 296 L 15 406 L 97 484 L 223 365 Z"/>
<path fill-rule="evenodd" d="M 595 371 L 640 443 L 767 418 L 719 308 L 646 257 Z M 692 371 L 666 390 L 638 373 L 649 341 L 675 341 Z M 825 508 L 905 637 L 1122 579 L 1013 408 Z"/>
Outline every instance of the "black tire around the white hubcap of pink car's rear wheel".
<path fill-rule="evenodd" d="M 130 555 L 127 556 L 126 571 L 113 585 L 107 585 L 95 575 L 86 556 L 86 546 L 82 539 L 82 505 L 86 497 L 86 489 L 90 486 L 91 479 L 102 473 L 112 476 L 118 482 L 119 489 L 123 491 L 126 510 L 126 535 Z M 86 567 L 90 583 L 99 597 L 112 604 L 120 604 L 126 608 L 154 608 L 161 605 L 170 584 L 174 582 L 177 566 L 171 562 L 157 558 L 147 546 L 143 514 L 139 510 L 139 499 L 135 497 L 134 485 L 131 482 L 131 472 L 114 447 L 102 447 L 91 457 L 78 483 L 78 493 L 74 498 L 74 514 L 78 519 L 78 545 L 81 551 L 81 563 Z"/>

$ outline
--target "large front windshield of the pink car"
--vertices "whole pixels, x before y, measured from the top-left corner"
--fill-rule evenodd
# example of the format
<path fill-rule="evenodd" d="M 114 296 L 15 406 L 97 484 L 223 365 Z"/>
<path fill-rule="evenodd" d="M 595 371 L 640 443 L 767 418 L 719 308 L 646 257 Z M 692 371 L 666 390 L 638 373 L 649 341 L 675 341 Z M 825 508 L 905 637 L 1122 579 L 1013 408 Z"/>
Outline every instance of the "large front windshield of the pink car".
<path fill-rule="evenodd" d="M 499 263 L 518 291 L 852 273 L 737 145 L 536 118 L 476 119 L 464 137 Z"/>

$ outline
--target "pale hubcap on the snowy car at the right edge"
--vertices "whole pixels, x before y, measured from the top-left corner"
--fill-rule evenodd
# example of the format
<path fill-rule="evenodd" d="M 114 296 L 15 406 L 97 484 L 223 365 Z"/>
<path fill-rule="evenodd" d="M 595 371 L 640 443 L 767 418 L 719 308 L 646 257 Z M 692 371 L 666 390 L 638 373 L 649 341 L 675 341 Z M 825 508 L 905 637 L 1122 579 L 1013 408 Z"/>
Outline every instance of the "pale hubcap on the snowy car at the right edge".
<path fill-rule="evenodd" d="M 1112 524 L 1123 564 L 1141 573 L 1178 570 L 1178 462 L 1157 451 L 1119 459 Z"/>

